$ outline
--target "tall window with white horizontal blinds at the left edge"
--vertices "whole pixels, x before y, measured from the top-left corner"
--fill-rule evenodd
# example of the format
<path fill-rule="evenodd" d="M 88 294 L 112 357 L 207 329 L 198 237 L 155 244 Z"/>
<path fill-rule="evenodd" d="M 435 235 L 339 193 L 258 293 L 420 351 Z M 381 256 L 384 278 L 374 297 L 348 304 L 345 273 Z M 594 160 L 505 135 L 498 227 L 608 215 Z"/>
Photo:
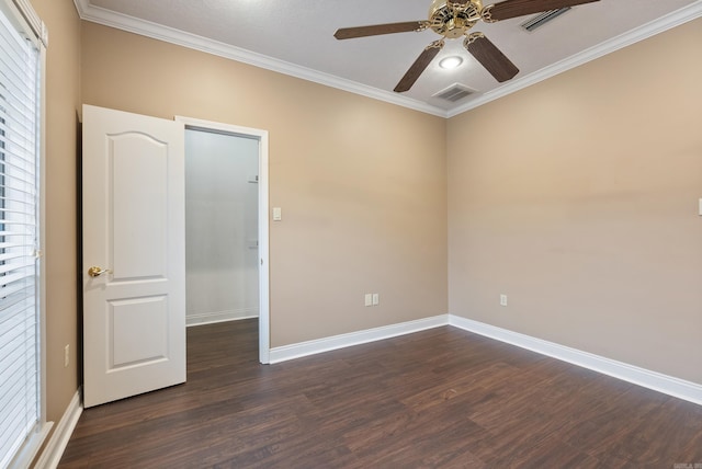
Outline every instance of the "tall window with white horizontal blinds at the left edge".
<path fill-rule="evenodd" d="M 42 30 L 25 1 L 0 0 L 0 468 L 31 461 L 48 430 L 41 379 Z"/>

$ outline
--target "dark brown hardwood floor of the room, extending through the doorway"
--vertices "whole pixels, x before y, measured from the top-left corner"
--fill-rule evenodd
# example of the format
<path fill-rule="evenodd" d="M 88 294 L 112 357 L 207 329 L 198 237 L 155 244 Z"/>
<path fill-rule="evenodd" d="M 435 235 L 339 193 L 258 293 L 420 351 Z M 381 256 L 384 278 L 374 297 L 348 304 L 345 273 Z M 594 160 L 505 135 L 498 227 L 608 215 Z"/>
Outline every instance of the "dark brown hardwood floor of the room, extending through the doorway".
<path fill-rule="evenodd" d="M 59 467 L 702 464 L 702 407 L 458 329 L 269 366 L 257 340 L 190 328 L 188 382 L 86 410 Z"/>

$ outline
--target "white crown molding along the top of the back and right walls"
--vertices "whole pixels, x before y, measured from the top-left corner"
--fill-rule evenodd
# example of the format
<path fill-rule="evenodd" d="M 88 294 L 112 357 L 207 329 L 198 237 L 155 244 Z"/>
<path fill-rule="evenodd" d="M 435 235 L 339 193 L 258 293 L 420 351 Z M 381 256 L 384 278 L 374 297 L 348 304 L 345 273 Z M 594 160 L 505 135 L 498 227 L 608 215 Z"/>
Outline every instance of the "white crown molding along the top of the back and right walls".
<path fill-rule="evenodd" d="M 656 34 L 668 31 L 672 27 L 684 24 L 689 21 L 702 16 L 702 0 L 698 0 L 687 7 L 669 13 L 660 19 L 652 21 L 641 27 L 621 34 L 610 41 L 605 41 L 597 46 L 590 47 L 581 53 L 575 54 L 564 60 L 561 60 L 548 67 L 544 67 L 539 71 L 530 73 L 525 77 L 512 80 L 495 90 L 488 91 L 474 100 L 446 111 L 438 106 L 423 103 L 418 100 L 398 95 L 377 88 L 358 83 L 355 81 L 346 80 L 332 75 L 322 73 L 306 67 L 301 67 L 284 60 L 274 59 L 250 50 L 224 44 L 218 41 L 208 39 L 195 34 L 185 33 L 172 27 L 163 26 L 145 20 L 139 20 L 111 10 L 95 7 L 90 0 L 73 0 L 76 9 L 81 20 L 102 24 L 104 26 L 115 27 L 129 33 L 139 34 L 158 41 L 176 44 L 182 47 L 200 50 L 206 54 L 216 55 L 231 60 L 248 64 L 254 67 L 264 68 L 267 70 L 284 73 L 291 77 L 348 91 L 362 96 L 384 101 L 403 107 L 435 115 L 439 117 L 454 117 L 467 111 L 487 104 L 491 101 L 514 93 L 532 84 L 544 81 L 551 77 L 568 71 L 575 67 L 587 64 L 604 55 L 611 54 L 623 47 L 635 44 L 639 41 L 655 36 Z"/>

